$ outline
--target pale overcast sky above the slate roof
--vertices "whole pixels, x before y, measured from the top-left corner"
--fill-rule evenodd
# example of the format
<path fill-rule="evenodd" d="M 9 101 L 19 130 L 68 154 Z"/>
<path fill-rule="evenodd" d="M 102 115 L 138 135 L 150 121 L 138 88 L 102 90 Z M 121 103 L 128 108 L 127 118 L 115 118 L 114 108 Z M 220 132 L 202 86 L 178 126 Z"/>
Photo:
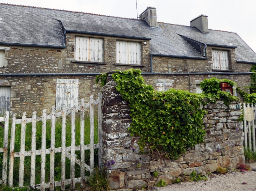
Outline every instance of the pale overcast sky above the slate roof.
<path fill-rule="evenodd" d="M 0 0 L 2 3 L 136 18 L 136 0 Z M 156 7 L 157 21 L 190 25 L 204 14 L 209 29 L 236 32 L 256 52 L 256 0 L 137 0 L 138 16 Z"/>

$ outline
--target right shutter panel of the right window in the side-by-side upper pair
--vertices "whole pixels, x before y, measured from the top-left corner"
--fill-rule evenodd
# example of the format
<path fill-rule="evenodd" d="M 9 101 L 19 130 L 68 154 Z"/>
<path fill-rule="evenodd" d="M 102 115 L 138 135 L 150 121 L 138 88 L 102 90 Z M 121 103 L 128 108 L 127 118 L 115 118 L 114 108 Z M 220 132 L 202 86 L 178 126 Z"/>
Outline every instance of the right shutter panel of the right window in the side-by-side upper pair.
<path fill-rule="evenodd" d="M 141 48 L 140 43 L 129 42 L 129 61 L 128 64 L 141 64 Z"/>

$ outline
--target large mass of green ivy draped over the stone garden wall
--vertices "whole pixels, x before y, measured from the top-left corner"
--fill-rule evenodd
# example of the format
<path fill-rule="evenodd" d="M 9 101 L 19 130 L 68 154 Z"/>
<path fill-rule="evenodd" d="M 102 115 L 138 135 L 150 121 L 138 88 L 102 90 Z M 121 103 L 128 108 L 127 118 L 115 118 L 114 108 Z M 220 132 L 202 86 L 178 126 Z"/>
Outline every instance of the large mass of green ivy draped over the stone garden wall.
<path fill-rule="evenodd" d="M 201 103 L 215 102 L 221 93 L 193 94 L 189 91 L 169 89 L 155 91 L 147 85 L 140 69 L 128 69 L 112 74 L 116 89 L 129 102 L 132 136 L 140 137 L 141 151 L 145 146 L 177 158 L 187 148 L 200 144 L 205 136 L 202 118 L 206 111 Z M 105 85 L 107 74 L 97 77 Z M 225 93 L 224 93 L 225 94 Z M 231 95 L 230 95 L 231 96 Z M 231 96 L 234 97 L 234 96 Z M 233 101 L 233 100 L 232 100 Z"/>

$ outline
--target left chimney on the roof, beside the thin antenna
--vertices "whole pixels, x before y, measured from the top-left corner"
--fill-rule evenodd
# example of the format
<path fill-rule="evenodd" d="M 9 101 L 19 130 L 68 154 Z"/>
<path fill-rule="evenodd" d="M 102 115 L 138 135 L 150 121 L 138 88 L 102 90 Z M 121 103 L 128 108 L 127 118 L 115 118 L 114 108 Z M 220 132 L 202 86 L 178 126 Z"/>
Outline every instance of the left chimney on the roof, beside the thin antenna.
<path fill-rule="evenodd" d="M 157 17 L 156 17 L 155 7 L 147 7 L 147 9 L 144 10 L 139 17 L 140 17 L 140 20 L 146 21 L 150 27 L 157 27 Z"/>

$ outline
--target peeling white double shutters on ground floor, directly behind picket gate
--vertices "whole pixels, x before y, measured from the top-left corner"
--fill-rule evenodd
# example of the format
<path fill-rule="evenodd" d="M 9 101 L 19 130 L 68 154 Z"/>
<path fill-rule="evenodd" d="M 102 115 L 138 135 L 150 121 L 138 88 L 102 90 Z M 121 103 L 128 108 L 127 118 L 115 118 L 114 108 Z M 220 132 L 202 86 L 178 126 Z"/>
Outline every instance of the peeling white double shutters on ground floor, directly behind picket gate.
<path fill-rule="evenodd" d="M 67 109 L 78 106 L 78 79 L 57 79 L 56 110 L 65 104 Z"/>

